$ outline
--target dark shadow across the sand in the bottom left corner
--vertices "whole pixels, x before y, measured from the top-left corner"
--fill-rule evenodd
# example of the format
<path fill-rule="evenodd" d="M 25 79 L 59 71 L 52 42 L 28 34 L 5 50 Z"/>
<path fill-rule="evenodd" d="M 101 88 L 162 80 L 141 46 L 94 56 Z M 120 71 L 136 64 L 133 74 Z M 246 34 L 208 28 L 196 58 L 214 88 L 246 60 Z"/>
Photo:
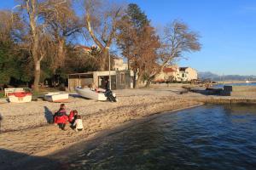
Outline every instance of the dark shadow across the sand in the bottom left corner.
<path fill-rule="evenodd" d="M 1 170 L 44 170 L 44 169 L 67 169 L 65 163 L 41 156 L 29 156 L 12 150 L 0 149 Z"/>

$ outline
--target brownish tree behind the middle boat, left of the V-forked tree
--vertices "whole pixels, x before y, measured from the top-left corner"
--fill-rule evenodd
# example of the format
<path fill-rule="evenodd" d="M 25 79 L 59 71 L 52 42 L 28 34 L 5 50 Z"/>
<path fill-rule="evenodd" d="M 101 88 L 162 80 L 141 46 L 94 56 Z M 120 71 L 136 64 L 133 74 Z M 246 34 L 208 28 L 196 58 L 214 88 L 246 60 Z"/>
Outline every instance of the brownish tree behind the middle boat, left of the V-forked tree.
<path fill-rule="evenodd" d="M 53 71 L 64 65 L 67 39 L 81 30 L 79 17 L 72 8 L 71 0 L 49 0 L 44 8 L 44 18 L 55 44 L 55 54 L 51 56 Z"/>

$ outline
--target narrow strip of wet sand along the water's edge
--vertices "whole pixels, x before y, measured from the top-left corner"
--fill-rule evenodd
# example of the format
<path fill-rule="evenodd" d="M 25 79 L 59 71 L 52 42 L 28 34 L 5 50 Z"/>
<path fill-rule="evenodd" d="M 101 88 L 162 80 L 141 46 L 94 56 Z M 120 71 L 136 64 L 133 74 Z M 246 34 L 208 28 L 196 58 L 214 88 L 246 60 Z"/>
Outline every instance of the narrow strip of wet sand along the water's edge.
<path fill-rule="evenodd" d="M 62 147 L 49 148 L 49 150 L 43 150 L 41 152 L 33 154 L 32 157 L 25 156 L 24 158 L 21 158 L 20 160 L 13 162 L 11 168 L 18 168 L 20 166 L 35 164 L 35 162 L 38 161 L 38 157 L 46 157 L 47 160 L 54 160 L 55 157 L 58 157 L 58 161 L 50 165 L 50 166 L 58 166 L 57 164 L 63 163 L 64 161 L 67 160 L 67 157 L 72 156 L 76 152 L 76 150 L 79 149 L 80 144 L 85 143 L 85 144 L 88 144 L 86 147 L 91 147 L 91 145 L 93 145 L 92 144 L 93 142 L 96 142 L 97 140 L 113 135 L 114 133 L 120 133 L 125 129 L 132 127 L 135 124 L 148 122 L 159 116 L 164 116 L 166 114 L 174 114 L 177 111 L 185 111 L 195 107 L 199 107 L 201 105 L 204 105 L 204 104 L 190 105 L 188 107 L 178 108 L 172 111 L 160 111 L 160 112 L 150 113 L 148 114 L 148 116 L 139 117 L 138 119 L 132 119 L 131 121 L 120 123 L 117 126 L 110 127 L 108 129 L 103 129 L 96 133 L 91 133 L 88 136 L 86 136 L 86 138 L 84 139 L 80 139 L 79 141 L 64 145 Z M 39 161 L 40 162 L 38 163 L 46 163 L 46 164 L 49 163 L 49 161 L 41 161 L 41 160 Z"/>

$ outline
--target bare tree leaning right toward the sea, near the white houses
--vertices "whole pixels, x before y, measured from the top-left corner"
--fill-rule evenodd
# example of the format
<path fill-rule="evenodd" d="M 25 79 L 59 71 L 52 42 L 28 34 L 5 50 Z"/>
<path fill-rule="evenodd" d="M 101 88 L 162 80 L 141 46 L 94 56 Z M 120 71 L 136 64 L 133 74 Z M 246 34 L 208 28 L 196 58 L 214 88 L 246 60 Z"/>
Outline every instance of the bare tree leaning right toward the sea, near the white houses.
<path fill-rule="evenodd" d="M 168 24 L 164 30 L 164 37 L 162 37 L 161 48 L 158 50 L 159 68 L 155 68 L 148 76 L 146 86 L 154 79 L 154 77 L 163 71 L 168 64 L 172 64 L 174 59 L 183 58 L 184 52 L 195 52 L 201 49 L 199 42 L 199 35 L 195 31 L 190 31 L 189 26 L 174 20 Z"/>

